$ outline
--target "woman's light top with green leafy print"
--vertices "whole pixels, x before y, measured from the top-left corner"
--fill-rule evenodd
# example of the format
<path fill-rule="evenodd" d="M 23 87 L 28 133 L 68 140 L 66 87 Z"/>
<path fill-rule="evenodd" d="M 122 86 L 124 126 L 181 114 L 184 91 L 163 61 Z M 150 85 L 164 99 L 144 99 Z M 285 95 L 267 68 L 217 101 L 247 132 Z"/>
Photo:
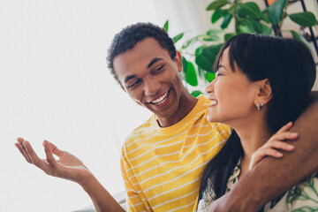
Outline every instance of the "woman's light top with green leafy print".
<path fill-rule="evenodd" d="M 227 183 L 226 193 L 238 181 L 240 173 L 240 159 L 238 165 L 233 170 Z M 210 204 L 216 200 L 216 195 L 212 189 L 212 182 L 208 179 L 208 186 L 202 193 L 202 199 L 198 203 L 197 212 L 208 212 Z M 275 200 L 268 202 L 259 210 L 267 212 L 311 212 L 318 211 L 318 173 L 306 178 L 298 186 L 283 193 Z"/>

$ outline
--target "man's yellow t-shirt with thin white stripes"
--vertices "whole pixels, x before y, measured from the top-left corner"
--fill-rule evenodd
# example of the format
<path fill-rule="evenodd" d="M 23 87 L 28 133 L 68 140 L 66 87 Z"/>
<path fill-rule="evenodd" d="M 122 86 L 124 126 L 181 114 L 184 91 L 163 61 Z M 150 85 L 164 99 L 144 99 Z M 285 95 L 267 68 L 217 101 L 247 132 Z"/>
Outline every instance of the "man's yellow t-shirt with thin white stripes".
<path fill-rule="evenodd" d="M 160 127 L 153 115 L 125 140 L 121 169 L 128 211 L 195 211 L 206 163 L 229 138 L 229 126 L 209 123 L 201 95 L 175 125 Z"/>

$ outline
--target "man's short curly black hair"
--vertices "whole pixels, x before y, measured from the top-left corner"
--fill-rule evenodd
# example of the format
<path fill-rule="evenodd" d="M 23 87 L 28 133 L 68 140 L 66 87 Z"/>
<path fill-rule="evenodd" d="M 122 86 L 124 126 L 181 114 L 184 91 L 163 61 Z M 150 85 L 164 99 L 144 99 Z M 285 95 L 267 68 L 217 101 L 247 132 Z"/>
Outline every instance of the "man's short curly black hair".
<path fill-rule="evenodd" d="M 158 27 L 152 23 L 137 23 L 123 28 L 112 40 L 106 58 L 110 73 L 123 89 L 125 88 L 121 85 L 114 70 L 114 58 L 128 49 L 133 49 L 138 42 L 148 37 L 155 38 L 163 49 L 167 49 L 171 59 L 176 57 L 176 47 L 173 40 L 162 27 Z"/>

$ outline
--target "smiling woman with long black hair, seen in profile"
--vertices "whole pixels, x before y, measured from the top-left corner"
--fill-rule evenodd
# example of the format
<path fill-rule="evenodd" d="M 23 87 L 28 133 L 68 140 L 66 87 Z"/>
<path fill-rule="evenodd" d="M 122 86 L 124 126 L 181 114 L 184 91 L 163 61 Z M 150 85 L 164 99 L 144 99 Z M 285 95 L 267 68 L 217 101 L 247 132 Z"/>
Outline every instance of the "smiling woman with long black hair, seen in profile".
<path fill-rule="evenodd" d="M 282 157 L 276 149 L 292 151 L 293 146 L 283 140 L 297 138 L 297 133 L 288 130 L 306 108 L 316 74 L 304 44 L 255 34 L 239 34 L 226 42 L 215 71 L 216 79 L 206 88 L 211 100 L 208 121 L 231 125 L 233 131 L 203 173 L 198 211 L 208 211 L 212 201 L 227 193 L 264 156 Z M 317 191 L 315 174 L 261 210 L 318 210 Z"/>

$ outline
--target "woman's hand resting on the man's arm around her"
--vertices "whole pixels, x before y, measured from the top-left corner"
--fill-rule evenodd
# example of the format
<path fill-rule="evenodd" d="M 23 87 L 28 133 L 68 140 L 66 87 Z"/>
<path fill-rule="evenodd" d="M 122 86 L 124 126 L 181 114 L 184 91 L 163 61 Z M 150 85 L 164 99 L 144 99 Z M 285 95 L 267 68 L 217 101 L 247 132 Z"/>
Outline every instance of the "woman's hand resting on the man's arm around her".
<path fill-rule="evenodd" d="M 283 154 L 277 149 L 284 151 L 292 151 L 294 146 L 287 144 L 284 140 L 296 140 L 298 133 L 288 132 L 292 127 L 292 122 L 284 125 L 277 133 L 275 133 L 261 148 L 258 148 L 252 155 L 249 170 L 252 170 L 254 166 L 259 163 L 265 156 L 272 156 L 275 158 L 281 158 Z"/>

